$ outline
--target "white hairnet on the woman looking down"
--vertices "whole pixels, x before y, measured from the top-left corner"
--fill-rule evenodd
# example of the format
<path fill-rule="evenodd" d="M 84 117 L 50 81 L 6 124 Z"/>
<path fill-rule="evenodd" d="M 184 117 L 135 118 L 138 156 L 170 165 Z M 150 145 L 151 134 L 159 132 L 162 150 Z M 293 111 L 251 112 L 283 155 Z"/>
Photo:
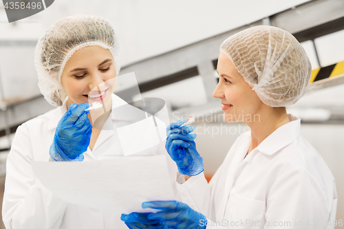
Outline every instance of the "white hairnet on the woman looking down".
<path fill-rule="evenodd" d="M 118 38 L 111 25 L 101 17 L 65 17 L 51 25 L 39 39 L 34 63 L 41 94 L 51 105 L 61 106 L 67 96 L 61 84 L 61 74 L 68 59 L 76 50 L 89 45 L 99 45 L 110 50 L 118 76 Z"/>

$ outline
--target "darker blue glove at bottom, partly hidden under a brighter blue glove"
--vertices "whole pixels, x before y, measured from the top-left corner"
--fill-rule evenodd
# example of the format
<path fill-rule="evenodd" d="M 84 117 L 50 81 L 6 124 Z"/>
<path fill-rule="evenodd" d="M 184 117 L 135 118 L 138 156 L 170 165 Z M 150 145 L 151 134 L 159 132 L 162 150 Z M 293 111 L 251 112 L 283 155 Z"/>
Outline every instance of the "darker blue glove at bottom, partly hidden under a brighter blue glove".
<path fill-rule="evenodd" d="M 125 221 L 125 225 L 130 229 L 167 229 L 164 221 L 147 219 L 149 214 L 149 212 L 132 212 L 129 215 L 122 214 L 120 220 Z"/>

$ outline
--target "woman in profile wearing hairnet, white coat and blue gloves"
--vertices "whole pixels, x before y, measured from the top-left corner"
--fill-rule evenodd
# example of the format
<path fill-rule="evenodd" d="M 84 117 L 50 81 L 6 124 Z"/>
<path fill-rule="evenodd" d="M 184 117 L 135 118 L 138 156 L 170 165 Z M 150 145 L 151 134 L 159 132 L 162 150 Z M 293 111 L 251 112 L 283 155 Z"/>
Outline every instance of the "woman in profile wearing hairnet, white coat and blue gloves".
<path fill-rule="evenodd" d="M 160 210 L 147 219 L 183 229 L 334 228 L 334 177 L 300 135 L 300 119 L 286 112 L 310 81 L 303 47 L 279 28 L 249 28 L 222 43 L 217 72 L 213 96 L 226 122 L 246 122 L 250 131 L 237 138 L 208 184 L 194 128 L 172 123 L 166 149 L 178 165 L 182 202 L 144 202 L 144 208 Z M 137 222 L 134 214 L 122 220 Z"/>

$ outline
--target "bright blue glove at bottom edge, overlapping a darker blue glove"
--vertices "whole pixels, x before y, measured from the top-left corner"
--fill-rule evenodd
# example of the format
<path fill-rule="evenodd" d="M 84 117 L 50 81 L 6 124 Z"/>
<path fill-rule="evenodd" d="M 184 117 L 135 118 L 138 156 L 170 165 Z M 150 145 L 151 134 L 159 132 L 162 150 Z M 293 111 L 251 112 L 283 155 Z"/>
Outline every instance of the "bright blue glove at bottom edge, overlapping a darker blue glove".
<path fill-rule="evenodd" d="M 206 217 L 180 201 L 149 201 L 142 203 L 142 208 L 161 210 L 149 213 L 147 219 L 166 221 L 167 228 L 206 228 Z"/>

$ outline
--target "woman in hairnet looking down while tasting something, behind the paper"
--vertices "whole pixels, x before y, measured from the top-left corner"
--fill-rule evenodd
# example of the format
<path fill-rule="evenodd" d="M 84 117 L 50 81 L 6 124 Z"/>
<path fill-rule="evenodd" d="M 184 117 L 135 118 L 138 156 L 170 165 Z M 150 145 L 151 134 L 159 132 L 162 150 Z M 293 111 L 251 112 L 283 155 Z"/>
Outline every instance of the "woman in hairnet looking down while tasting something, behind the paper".
<path fill-rule="evenodd" d="M 116 127 L 129 126 L 131 120 L 114 115 L 116 108 L 129 107 L 113 93 L 120 70 L 117 40 L 105 19 L 88 15 L 65 17 L 39 39 L 35 50 L 39 88 L 47 102 L 58 107 L 21 124 L 16 131 L 3 197 L 6 228 L 127 228 L 119 212 L 60 199 L 39 182 L 31 166 L 33 161 L 74 163 L 125 156 Z M 101 109 L 89 110 L 94 102 L 99 102 Z M 131 108 L 132 112 L 141 111 Z M 158 129 L 166 129 L 163 122 L 156 123 Z M 146 135 L 147 140 L 155 137 Z M 131 142 L 131 136 L 125 141 Z M 152 160 L 155 155 L 167 155 L 164 142 L 140 150 L 133 155 Z M 167 158 L 171 184 L 175 184 L 177 168 Z M 111 182 L 116 184 L 116 180 Z"/>

